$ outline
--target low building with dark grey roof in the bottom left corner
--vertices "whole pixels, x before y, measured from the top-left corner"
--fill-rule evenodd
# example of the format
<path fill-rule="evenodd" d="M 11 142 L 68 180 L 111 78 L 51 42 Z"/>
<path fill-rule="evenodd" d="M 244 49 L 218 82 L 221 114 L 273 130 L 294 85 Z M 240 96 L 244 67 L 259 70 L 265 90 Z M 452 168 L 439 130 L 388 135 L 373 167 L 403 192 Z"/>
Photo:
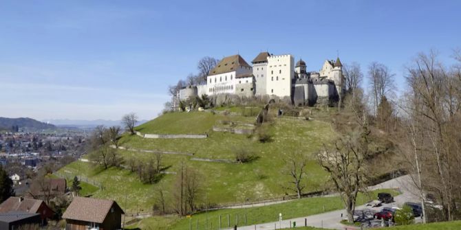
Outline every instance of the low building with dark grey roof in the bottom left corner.
<path fill-rule="evenodd" d="M 0 214 L 0 229 L 34 229 L 40 225 L 39 214 L 30 214 L 25 211 L 10 211 Z"/>

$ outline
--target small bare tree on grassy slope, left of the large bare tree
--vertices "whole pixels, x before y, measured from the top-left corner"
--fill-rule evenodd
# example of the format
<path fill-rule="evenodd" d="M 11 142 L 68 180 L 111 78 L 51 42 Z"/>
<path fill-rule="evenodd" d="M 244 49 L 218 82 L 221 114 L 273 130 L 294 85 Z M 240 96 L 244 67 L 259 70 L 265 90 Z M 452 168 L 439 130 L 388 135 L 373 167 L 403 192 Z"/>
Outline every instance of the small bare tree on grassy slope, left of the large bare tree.
<path fill-rule="evenodd" d="M 301 198 L 301 194 L 305 185 L 303 184 L 303 178 L 305 176 L 305 165 L 308 163 L 308 159 L 304 154 L 299 152 L 294 152 L 288 154 L 286 158 L 283 159 L 285 162 L 285 168 L 283 168 L 283 174 L 290 176 L 290 185 L 286 186 L 286 189 L 290 189 L 296 192 L 298 198 Z"/>

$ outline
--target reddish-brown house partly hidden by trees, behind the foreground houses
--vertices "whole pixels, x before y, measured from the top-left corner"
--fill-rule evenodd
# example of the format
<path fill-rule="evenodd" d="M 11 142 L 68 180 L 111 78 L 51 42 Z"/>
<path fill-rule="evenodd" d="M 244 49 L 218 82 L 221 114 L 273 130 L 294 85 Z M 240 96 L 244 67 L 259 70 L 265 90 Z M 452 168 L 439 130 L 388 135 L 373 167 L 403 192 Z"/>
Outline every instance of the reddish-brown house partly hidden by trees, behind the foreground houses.
<path fill-rule="evenodd" d="M 50 200 L 67 192 L 65 179 L 43 179 L 30 185 L 29 195 L 35 199 Z"/>

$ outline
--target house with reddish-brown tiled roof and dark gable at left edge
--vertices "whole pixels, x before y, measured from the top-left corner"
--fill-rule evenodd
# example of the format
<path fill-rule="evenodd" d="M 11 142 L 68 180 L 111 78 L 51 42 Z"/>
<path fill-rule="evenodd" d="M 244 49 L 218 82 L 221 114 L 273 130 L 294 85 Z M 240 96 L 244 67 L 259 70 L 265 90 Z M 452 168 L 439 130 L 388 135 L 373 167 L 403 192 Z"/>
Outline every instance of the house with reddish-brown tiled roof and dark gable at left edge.
<path fill-rule="evenodd" d="M 0 204 L 0 214 L 5 214 L 10 211 L 24 211 L 30 214 L 40 214 L 42 224 L 46 222 L 46 219 L 52 218 L 54 215 L 54 211 L 50 209 L 43 200 L 14 196 L 11 196 Z"/>

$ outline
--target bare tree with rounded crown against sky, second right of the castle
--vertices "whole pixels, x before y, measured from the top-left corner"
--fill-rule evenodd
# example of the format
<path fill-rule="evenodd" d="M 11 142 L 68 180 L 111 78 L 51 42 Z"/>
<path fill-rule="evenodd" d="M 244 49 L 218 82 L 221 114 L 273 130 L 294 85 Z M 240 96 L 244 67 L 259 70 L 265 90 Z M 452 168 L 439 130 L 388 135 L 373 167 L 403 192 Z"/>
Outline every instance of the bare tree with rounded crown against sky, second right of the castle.
<path fill-rule="evenodd" d="M 389 68 L 385 65 L 372 62 L 368 67 L 369 87 L 374 97 L 374 113 L 378 109 L 381 99 L 384 96 L 391 97 L 394 91 L 394 74 L 390 73 Z"/>

